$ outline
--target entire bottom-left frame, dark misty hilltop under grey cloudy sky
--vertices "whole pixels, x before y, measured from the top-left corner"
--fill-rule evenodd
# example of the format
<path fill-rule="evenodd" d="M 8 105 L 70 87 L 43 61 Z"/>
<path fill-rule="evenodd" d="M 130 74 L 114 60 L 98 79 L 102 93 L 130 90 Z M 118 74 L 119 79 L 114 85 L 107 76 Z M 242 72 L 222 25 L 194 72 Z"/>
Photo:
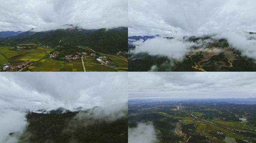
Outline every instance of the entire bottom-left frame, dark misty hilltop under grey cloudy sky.
<path fill-rule="evenodd" d="M 2 73 L 0 79 L 0 142 L 127 140 L 125 73 Z"/>

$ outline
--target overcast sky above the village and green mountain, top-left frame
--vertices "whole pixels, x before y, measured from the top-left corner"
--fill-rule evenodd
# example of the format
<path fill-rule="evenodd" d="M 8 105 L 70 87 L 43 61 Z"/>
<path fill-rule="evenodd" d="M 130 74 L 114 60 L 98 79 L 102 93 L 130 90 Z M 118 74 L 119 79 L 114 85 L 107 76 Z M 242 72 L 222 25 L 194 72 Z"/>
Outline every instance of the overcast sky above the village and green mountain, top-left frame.
<path fill-rule="evenodd" d="M 128 26 L 127 0 L 0 0 L 0 31 Z"/>

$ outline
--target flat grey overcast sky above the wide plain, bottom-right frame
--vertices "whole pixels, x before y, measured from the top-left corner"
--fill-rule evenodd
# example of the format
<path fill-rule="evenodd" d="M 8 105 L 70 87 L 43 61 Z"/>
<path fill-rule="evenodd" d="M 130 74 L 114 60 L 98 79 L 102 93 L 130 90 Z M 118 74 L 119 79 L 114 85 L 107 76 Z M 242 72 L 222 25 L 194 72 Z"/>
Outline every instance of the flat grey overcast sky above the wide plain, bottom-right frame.
<path fill-rule="evenodd" d="M 129 99 L 256 98 L 254 72 L 129 72 L 128 78 Z"/>

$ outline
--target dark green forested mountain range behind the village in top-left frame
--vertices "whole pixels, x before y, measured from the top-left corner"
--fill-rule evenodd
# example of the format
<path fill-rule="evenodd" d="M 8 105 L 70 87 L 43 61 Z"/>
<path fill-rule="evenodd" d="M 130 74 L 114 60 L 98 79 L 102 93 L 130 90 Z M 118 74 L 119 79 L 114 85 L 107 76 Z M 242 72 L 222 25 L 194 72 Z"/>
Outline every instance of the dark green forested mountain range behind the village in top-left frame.
<path fill-rule="evenodd" d="M 19 43 L 41 43 L 46 45 L 83 45 L 101 53 L 116 53 L 127 51 L 128 28 L 112 29 L 82 29 L 74 25 L 63 25 L 61 29 L 36 32 L 30 29 L 26 32 L 1 38 L 0 43 L 16 45 Z"/>

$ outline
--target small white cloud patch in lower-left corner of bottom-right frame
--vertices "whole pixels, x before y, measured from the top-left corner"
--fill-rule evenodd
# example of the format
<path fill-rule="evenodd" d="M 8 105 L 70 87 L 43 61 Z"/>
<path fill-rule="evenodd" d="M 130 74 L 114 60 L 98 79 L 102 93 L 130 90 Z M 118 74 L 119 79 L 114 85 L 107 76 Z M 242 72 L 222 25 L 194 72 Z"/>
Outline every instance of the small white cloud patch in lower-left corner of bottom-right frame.
<path fill-rule="evenodd" d="M 135 128 L 128 128 L 128 143 L 157 143 L 157 131 L 152 123 L 138 123 Z"/>

